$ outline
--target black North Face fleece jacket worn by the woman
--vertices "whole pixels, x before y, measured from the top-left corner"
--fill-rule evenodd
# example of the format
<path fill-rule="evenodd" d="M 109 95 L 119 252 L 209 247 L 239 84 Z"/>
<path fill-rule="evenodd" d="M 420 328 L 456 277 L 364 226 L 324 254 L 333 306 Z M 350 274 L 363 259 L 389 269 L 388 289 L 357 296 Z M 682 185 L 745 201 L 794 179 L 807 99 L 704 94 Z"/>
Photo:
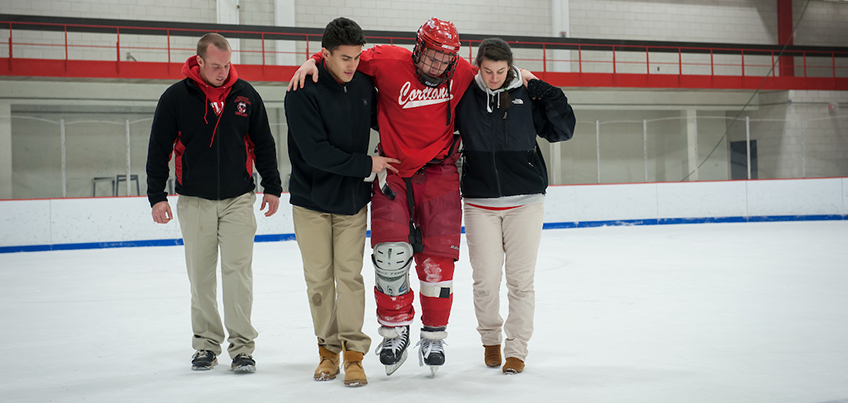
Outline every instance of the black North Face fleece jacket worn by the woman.
<path fill-rule="evenodd" d="M 495 198 L 545 193 L 548 171 L 536 135 L 550 141 L 570 139 L 576 120 L 562 90 L 540 80 L 529 89 L 509 90 L 509 109 L 492 107 L 490 96 L 472 82 L 456 107 L 462 136 L 462 196 Z M 532 99 L 531 93 L 539 99 Z"/>

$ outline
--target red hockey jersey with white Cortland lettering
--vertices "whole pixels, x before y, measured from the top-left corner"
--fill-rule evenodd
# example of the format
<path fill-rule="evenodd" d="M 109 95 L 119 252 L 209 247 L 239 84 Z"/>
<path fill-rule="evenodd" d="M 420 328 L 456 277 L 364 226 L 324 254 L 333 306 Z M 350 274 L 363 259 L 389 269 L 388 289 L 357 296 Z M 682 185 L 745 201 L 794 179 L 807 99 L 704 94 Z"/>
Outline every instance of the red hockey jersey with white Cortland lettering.
<path fill-rule="evenodd" d="M 313 58 L 320 62 L 321 53 Z M 476 74 L 462 57 L 456 63 L 448 93 L 447 83 L 430 88 L 418 81 L 412 52 L 406 48 L 377 45 L 362 52 L 357 70 L 373 77 L 379 93 L 380 144 L 386 157 L 401 161 L 397 168 L 402 178 L 450 152 L 456 105 Z"/>

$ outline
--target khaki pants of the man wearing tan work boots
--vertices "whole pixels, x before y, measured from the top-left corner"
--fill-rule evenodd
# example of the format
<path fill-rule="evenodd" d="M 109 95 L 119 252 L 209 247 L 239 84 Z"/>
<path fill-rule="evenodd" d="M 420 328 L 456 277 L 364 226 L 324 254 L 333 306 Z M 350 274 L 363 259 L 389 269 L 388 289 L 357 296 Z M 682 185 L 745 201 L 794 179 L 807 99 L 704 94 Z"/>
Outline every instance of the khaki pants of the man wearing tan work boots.
<path fill-rule="evenodd" d="M 292 206 L 315 336 L 319 345 L 336 353 L 342 343 L 361 353 L 371 348 L 371 338 L 362 332 L 366 211 L 342 215 Z"/>

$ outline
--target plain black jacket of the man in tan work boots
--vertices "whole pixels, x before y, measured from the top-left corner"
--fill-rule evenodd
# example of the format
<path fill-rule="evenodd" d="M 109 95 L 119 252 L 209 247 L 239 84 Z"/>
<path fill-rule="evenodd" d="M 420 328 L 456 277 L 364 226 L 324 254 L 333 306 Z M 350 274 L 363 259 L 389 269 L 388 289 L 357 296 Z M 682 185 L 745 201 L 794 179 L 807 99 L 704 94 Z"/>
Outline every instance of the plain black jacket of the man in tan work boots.
<path fill-rule="evenodd" d="M 376 127 L 377 92 L 355 73 L 345 84 L 318 63 L 318 82 L 286 94 L 291 204 L 331 214 L 356 214 L 371 200 L 367 155 Z"/>

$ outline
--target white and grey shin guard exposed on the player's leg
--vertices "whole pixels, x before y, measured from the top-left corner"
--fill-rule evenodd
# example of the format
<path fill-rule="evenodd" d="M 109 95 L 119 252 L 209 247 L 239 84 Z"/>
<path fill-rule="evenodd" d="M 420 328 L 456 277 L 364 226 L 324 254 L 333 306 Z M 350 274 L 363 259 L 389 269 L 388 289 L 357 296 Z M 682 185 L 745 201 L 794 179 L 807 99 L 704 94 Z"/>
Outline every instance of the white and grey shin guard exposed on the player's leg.
<path fill-rule="evenodd" d="M 377 273 L 377 291 L 393 297 L 409 292 L 412 245 L 407 242 L 379 243 L 374 246 L 371 261 Z"/>

